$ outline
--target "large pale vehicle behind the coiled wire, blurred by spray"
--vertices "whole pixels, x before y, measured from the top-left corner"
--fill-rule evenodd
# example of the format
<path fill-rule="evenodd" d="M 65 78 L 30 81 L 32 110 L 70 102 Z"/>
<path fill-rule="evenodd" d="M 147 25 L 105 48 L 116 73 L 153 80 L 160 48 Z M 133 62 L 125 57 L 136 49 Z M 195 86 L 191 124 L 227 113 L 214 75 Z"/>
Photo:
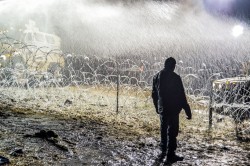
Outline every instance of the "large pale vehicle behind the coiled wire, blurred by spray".
<path fill-rule="evenodd" d="M 10 84 L 26 81 L 29 85 L 52 78 L 60 80 L 61 70 L 65 65 L 60 43 L 58 36 L 41 32 L 33 21 L 26 25 L 20 41 L 10 40 L 8 37 L 2 38 L 0 40 L 2 80 L 8 80 Z"/>

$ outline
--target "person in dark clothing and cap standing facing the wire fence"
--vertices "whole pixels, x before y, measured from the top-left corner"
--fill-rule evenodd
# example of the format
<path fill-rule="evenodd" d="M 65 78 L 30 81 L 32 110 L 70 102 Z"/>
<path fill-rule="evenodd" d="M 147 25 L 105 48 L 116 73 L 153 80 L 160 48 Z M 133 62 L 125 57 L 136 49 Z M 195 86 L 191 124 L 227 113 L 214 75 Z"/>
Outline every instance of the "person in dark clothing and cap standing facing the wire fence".
<path fill-rule="evenodd" d="M 153 78 L 152 90 L 153 102 L 156 112 L 160 115 L 161 122 L 160 148 L 162 153 L 159 157 L 163 160 L 167 156 L 167 162 L 169 163 L 183 160 L 183 157 L 175 154 L 180 111 L 184 109 L 187 119 L 192 118 L 181 78 L 174 72 L 175 65 L 174 58 L 166 59 L 164 69 Z"/>

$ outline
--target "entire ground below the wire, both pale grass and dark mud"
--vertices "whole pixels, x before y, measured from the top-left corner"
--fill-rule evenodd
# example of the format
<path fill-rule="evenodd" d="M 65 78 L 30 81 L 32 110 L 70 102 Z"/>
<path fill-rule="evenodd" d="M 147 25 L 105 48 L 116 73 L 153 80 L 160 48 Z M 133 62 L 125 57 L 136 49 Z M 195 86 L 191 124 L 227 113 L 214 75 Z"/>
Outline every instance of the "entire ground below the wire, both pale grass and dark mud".
<path fill-rule="evenodd" d="M 159 118 L 142 94 L 121 95 L 116 114 L 110 89 L 2 89 L 0 156 L 21 166 L 163 165 Z M 195 109 L 192 121 L 180 115 L 177 153 L 185 159 L 174 165 L 250 163 L 249 142 L 235 141 L 232 120 L 216 115 L 208 130 L 207 109 Z"/>

